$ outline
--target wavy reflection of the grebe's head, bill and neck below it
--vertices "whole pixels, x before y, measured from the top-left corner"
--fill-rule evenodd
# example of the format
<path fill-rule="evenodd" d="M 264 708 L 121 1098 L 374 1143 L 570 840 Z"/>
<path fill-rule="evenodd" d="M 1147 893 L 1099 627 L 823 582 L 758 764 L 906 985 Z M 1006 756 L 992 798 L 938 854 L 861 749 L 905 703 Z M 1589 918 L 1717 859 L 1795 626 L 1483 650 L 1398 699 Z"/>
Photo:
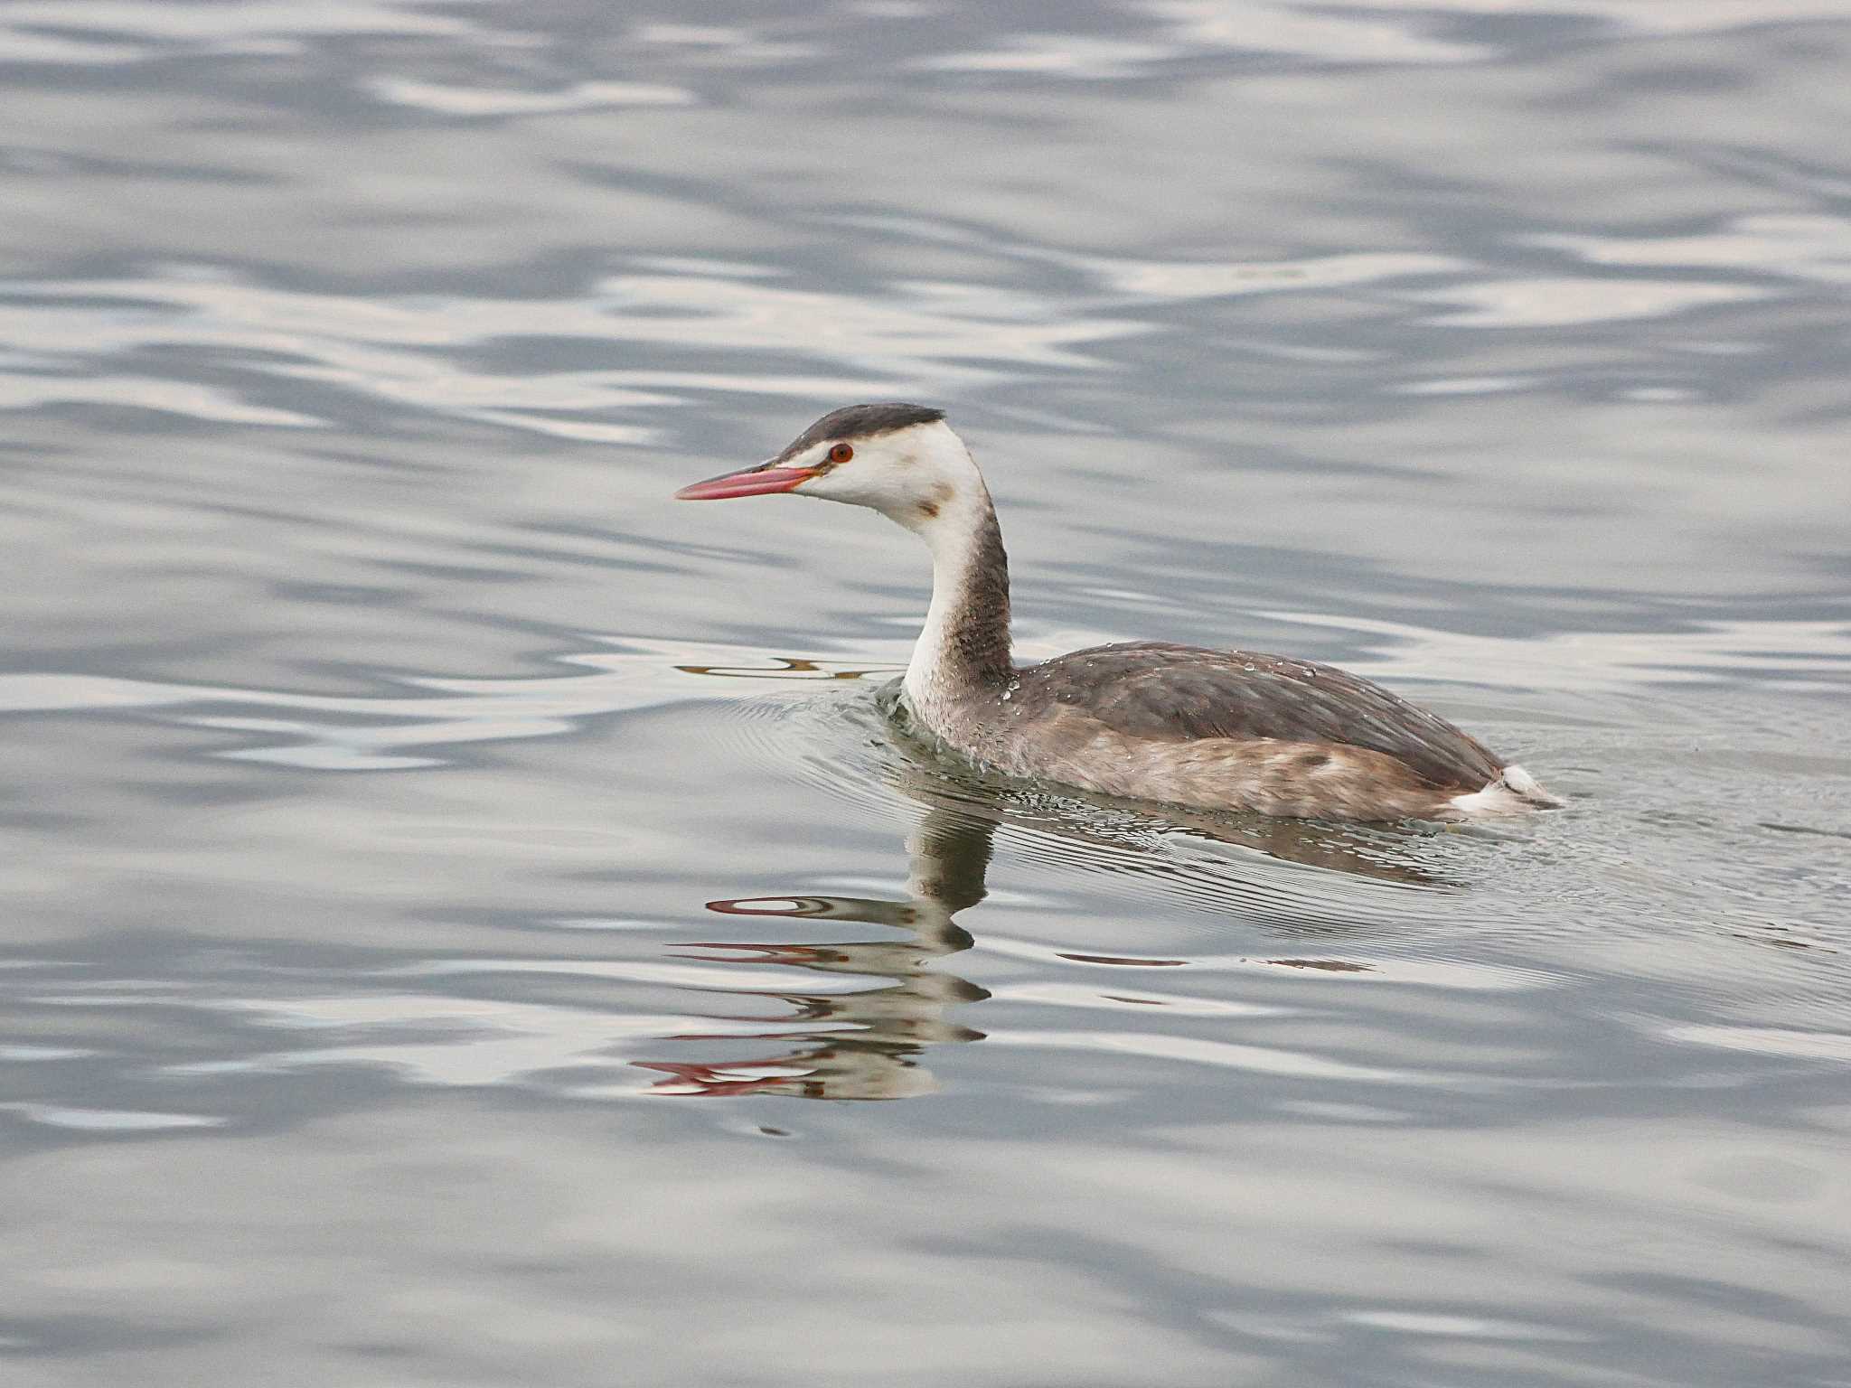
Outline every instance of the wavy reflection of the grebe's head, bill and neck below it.
<path fill-rule="evenodd" d="M 652 1094 L 737 1096 L 790 1094 L 805 1099 L 905 1099 L 938 1088 L 918 1055 L 935 1042 L 981 1040 L 981 1031 L 959 1025 L 950 1010 L 990 994 L 974 983 L 931 968 L 935 959 L 970 949 L 970 933 L 951 916 L 983 899 L 983 874 L 990 862 L 988 820 L 929 809 L 907 838 L 911 875 L 901 901 L 851 896 L 789 896 L 709 901 L 726 916 L 785 916 L 792 920 L 842 920 L 892 925 L 907 931 L 896 940 L 850 944 L 700 944 L 696 959 L 731 964 L 776 964 L 816 973 L 846 973 L 874 981 L 853 992 L 761 990 L 750 996 L 777 998 L 813 1031 L 776 1036 L 798 1049 L 763 1059 L 694 1064 L 644 1060 L 646 1070 L 666 1072 Z M 887 983 L 881 983 L 881 981 Z M 687 1036 L 687 1040 L 696 1040 Z"/>

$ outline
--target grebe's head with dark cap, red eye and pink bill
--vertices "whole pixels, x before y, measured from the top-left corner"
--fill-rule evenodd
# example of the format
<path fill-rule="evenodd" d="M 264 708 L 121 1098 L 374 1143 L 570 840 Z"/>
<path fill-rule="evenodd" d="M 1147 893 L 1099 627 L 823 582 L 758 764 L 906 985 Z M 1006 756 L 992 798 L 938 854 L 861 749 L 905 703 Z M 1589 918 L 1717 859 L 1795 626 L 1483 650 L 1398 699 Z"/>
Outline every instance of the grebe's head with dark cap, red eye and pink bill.
<path fill-rule="evenodd" d="M 722 502 L 772 492 L 872 507 L 914 531 L 929 531 L 940 514 L 987 498 L 977 465 L 944 411 L 900 403 L 831 411 L 776 457 L 696 481 L 676 498 Z"/>

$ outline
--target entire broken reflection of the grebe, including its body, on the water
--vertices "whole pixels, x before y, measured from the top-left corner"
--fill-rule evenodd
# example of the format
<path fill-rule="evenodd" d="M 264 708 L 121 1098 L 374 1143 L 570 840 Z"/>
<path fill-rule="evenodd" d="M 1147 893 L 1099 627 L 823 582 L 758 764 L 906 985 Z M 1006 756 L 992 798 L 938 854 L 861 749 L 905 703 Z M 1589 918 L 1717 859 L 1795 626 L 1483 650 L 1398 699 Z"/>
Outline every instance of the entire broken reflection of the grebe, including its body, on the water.
<path fill-rule="evenodd" d="M 776 672 L 698 668 L 698 674 L 859 679 L 872 670 L 826 670 L 811 661 L 781 661 Z M 1436 875 L 1410 851 L 1429 833 L 1414 825 L 1348 825 L 1283 820 L 1259 814 L 1207 814 L 1135 801 L 1114 801 L 1085 792 L 1042 792 L 1020 781 L 990 775 L 968 764 L 948 764 L 938 750 L 914 735 L 898 705 L 896 690 L 883 690 L 879 738 L 881 779 L 926 807 L 907 837 L 909 875 L 903 899 L 789 894 L 709 901 L 722 916 L 787 918 L 805 922 L 859 922 L 905 935 L 851 942 L 705 942 L 683 959 L 714 964 L 764 964 L 872 981 L 874 986 L 840 990 L 763 988 L 746 998 L 777 999 L 792 1009 L 764 1040 L 798 1042 L 776 1055 L 722 1060 L 640 1060 L 663 1072 L 648 1092 L 663 1096 L 783 1094 L 805 1099 L 905 1099 L 933 1094 L 938 1081 L 920 1064 L 927 1046 L 983 1040 L 964 1025 L 955 1009 L 990 994 L 938 966 L 938 960 L 970 949 L 975 940 L 953 916 L 985 898 L 992 838 L 998 825 L 1033 835 L 1053 855 L 1074 866 L 1144 877 L 1155 890 L 1186 899 L 1194 909 L 1240 916 L 1270 933 L 1296 938 L 1336 935 L 1348 929 L 1342 883 L 1372 879 L 1405 888 L 1444 888 L 1455 883 Z M 857 768 L 866 775 L 870 768 Z M 1149 837 L 1181 835 L 1198 842 L 1246 849 L 1233 859 L 1207 864 L 1153 851 Z M 1290 866 L 1286 866 L 1290 864 Z M 1292 868 L 1323 870 L 1312 879 L 1285 877 Z M 1325 875 L 1329 874 L 1329 875 Z M 1185 964 L 1181 959 L 1079 955 L 1088 964 Z M 1325 959 L 1261 959 L 1298 970 L 1357 972 L 1364 964 Z M 752 1022 L 763 1016 L 716 1020 Z M 790 1029 L 796 1023 L 796 1031 Z M 809 1023 L 809 1025 L 805 1025 Z M 676 1040 L 739 1040 L 739 1033 L 703 1036 L 683 1033 Z"/>

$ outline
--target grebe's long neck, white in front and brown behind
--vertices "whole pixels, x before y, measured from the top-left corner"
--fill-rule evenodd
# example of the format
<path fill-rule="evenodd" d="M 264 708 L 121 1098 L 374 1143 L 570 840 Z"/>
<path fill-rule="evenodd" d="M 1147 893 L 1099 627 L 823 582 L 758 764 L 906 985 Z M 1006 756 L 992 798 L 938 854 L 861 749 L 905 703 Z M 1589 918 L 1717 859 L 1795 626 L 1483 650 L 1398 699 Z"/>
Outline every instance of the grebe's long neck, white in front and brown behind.
<path fill-rule="evenodd" d="M 981 483 L 918 533 L 931 546 L 931 607 L 907 664 L 907 701 L 942 731 L 957 700 L 1009 683 L 1009 555 Z"/>

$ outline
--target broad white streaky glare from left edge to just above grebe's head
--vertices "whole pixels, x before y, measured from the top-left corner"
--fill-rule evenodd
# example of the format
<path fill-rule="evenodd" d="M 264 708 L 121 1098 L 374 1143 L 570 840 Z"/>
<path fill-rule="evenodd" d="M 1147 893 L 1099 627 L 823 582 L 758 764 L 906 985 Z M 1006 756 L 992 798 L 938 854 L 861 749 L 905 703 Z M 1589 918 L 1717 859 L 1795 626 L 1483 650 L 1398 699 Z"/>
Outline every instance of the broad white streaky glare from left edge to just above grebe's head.
<path fill-rule="evenodd" d="M 322 424 L 261 405 L 224 387 L 100 372 L 133 353 L 235 352 L 252 385 L 263 378 L 329 385 L 398 407 L 531 429 L 563 439 L 642 444 L 646 424 L 590 418 L 674 405 L 690 390 L 731 389 L 813 398 L 870 392 L 888 381 L 946 390 L 1000 376 L 1003 366 L 1090 370 L 1092 344 L 1144 331 L 1088 316 L 1083 304 L 903 285 L 866 300 L 779 285 L 761 266 L 720 274 L 626 274 L 578 300 L 485 296 L 331 296 L 265 289 L 235 274 L 193 268 L 135 281 L 17 283 L 0 302 L 0 329 L 31 342 L 37 368 L 0 374 L 0 407 L 94 402 L 272 426 Z M 826 324 L 824 331 L 813 331 Z M 520 339 L 578 341 L 581 350 L 763 352 L 805 342 L 844 374 L 683 376 L 657 366 L 553 368 L 515 374 L 472 368 L 470 350 Z M 50 374 L 44 365 L 61 370 Z"/>

